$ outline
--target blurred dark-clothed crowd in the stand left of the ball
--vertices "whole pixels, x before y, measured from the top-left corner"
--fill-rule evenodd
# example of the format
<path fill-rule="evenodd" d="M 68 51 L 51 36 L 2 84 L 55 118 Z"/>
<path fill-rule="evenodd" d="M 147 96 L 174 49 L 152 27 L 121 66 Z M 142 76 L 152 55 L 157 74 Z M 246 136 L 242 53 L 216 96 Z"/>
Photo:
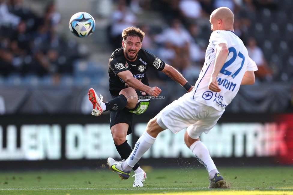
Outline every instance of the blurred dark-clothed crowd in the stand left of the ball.
<path fill-rule="evenodd" d="M 54 1 L 39 16 L 23 0 L 0 0 L 1 75 L 71 74 L 73 60 L 84 56 L 57 33 L 60 20 Z"/>

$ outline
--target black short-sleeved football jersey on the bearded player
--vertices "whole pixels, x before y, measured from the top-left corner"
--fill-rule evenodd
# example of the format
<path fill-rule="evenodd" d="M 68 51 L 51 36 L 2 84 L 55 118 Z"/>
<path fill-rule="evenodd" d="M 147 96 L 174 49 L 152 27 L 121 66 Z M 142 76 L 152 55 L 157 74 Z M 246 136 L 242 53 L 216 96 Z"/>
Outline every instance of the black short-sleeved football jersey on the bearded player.
<path fill-rule="evenodd" d="M 149 67 L 162 71 L 165 67 L 165 62 L 144 49 L 140 49 L 136 60 L 130 62 L 124 57 L 124 50 L 122 47 L 116 49 L 109 59 L 108 70 L 110 76 L 109 90 L 112 97 L 117 97 L 122 89 L 129 87 L 123 79 L 117 76 L 117 73 L 129 70 L 134 78 L 140 80 L 145 85 L 149 85 L 146 74 Z"/>

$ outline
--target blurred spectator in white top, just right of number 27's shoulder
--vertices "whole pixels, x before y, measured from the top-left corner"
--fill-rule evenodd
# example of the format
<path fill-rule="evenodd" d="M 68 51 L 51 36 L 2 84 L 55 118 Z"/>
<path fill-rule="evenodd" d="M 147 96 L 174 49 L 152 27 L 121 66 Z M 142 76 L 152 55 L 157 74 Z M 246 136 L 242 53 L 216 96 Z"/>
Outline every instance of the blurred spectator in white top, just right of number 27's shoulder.
<path fill-rule="evenodd" d="M 249 57 L 255 61 L 258 67 L 258 70 L 255 71 L 255 77 L 261 81 L 271 81 L 272 70 L 270 70 L 261 48 L 256 45 L 255 38 L 249 37 L 247 39 L 247 51 Z"/>

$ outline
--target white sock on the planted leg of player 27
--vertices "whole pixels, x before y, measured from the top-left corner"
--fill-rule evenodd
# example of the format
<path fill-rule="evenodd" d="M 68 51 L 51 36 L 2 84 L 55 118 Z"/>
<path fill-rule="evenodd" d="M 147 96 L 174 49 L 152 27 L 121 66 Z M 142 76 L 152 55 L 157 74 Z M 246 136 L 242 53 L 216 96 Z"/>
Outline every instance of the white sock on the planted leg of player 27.
<path fill-rule="evenodd" d="M 204 167 L 207 168 L 207 171 L 209 172 L 210 178 L 213 178 L 215 176 L 215 170 L 217 172 L 217 167 L 214 164 L 214 161 L 210 157 L 210 152 L 207 149 L 207 147 L 202 143 L 201 141 L 196 141 L 190 146 L 190 149 L 192 153 L 195 155 L 197 160 L 204 165 Z"/>

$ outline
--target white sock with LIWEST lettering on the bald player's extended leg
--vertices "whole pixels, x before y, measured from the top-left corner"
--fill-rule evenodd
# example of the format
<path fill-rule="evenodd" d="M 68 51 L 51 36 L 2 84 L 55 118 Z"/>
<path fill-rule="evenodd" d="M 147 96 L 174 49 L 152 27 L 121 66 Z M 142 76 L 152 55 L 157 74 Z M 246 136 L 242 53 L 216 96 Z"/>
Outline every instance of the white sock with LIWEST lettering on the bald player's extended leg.
<path fill-rule="evenodd" d="M 156 138 L 150 136 L 146 131 L 143 132 L 142 136 L 137 140 L 134 149 L 132 150 L 130 156 L 126 159 L 126 163 L 130 167 L 134 167 L 134 165 L 139 161 L 148 149 L 153 145 Z M 124 163 L 123 163 L 124 164 Z M 122 169 L 124 170 L 124 165 L 122 164 Z"/>

